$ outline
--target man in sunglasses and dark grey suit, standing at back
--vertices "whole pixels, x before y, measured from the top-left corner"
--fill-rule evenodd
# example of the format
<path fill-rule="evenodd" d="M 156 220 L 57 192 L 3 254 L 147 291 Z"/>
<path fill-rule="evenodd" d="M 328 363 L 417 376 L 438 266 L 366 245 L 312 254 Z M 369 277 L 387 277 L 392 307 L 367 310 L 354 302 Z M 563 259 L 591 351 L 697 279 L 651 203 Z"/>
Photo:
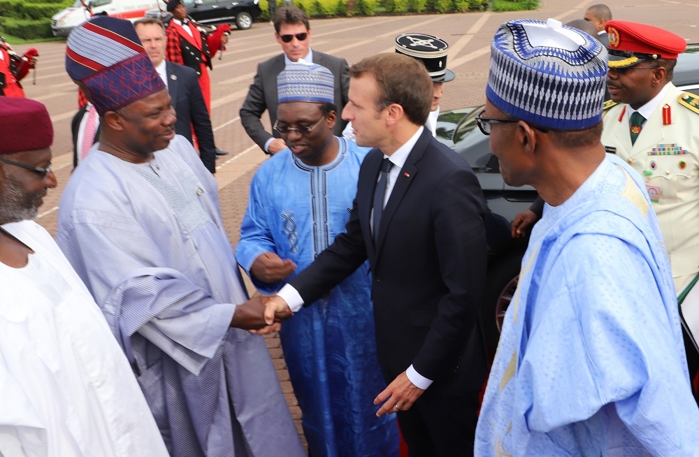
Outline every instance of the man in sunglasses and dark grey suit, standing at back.
<path fill-rule="evenodd" d="M 347 103 L 349 89 L 349 66 L 345 59 L 333 57 L 310 48 L 310 24 L 308 17 L 295 6 L 279 8 L 274 16 L 274 30 L 282 54 L 272 57 L 257 66 L 257 74 L 240 108 L 240 122 L 252 140 L 266 154 L 275 154 L 287 147 L 277 131 L 265 130 L 260 118 L 265 110 L 270 124 L 277 120 L 277 75 L 290 62 L 301 61 L 328 68 L 335 77 L 335 105 L 341 113 Z M 338 119 L 333 132 L 341 136 L 347 122 Z"/>

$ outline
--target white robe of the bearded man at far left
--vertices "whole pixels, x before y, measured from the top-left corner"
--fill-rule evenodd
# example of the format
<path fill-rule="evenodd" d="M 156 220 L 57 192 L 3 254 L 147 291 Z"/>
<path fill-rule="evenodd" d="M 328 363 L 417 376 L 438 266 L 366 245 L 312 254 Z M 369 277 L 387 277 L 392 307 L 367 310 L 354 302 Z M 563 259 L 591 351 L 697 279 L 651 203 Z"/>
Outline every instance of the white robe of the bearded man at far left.
<path fill-rule="evenodd" d="M 34 254 L 0 263 L 0 455 L 168 456 L 99 307 L 35 222 L 3 229 Z"/>

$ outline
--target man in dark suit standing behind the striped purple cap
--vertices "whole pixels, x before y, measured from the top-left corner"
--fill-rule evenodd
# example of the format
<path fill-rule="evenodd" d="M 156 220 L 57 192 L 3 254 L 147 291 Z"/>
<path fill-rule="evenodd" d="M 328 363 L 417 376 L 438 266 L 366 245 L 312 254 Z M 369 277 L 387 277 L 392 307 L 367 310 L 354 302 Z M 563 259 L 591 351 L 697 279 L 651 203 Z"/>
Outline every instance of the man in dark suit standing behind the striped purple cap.
<path fill-rule="evenodd" d="M 134 27 L 155 71 L 163 78 L 173 99 L 173 108 L 177 113 L 175 132 L 192 143 L 194 129 L 199 144 L 199 157 L 208 171 L 216 173 L 214 133 L 196 72 L 187 66 L 165 60 L 166 37 L 162 22 L 146 17 L 134 22 Z"/>

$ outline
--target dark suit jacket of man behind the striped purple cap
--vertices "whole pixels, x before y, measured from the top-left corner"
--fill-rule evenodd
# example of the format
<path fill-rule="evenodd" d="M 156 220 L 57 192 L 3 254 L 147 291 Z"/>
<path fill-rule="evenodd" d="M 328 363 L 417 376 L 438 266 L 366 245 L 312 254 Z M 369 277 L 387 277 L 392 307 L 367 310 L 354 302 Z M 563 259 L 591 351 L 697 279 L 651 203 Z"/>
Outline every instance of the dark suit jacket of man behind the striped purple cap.
<path fill-rule="evenodd" d="M 192 128 L 199 143 L 199 157 L 206 169 L 216 173 L 216 146 L 211 129 L 211 118 L 201 94 L 196 72 L 188 66 L 165 62 L 168 92 L 177 113 L 175 132 L 192 143 Z"/>

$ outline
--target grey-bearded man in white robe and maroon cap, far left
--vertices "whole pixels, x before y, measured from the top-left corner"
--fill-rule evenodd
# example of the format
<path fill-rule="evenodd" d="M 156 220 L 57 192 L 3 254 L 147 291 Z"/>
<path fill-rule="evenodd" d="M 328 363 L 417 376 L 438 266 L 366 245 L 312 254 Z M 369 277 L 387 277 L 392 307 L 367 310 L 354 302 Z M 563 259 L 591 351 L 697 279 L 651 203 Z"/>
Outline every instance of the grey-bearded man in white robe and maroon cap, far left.
<path fill-rule="evenodd" d="M 167 457 L 99 307 L 31 220 L 56 186 L 48 111 L 7 99 L 0 122 L 0 455 Z"/>

